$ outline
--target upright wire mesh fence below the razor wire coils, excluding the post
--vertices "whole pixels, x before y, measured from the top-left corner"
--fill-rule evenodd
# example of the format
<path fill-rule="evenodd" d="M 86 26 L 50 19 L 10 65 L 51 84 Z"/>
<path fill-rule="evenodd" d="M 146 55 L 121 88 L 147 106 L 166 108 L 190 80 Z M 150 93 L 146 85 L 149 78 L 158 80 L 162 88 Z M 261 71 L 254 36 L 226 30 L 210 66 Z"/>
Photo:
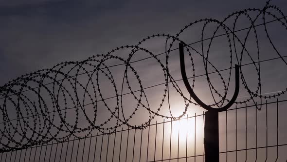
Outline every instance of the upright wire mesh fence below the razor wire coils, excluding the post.
<path fill-rule="evenodd" d="M 261 110 L 246 104 L 221 112 L 220 162 L 286 162 L 286 105 L 266 101 Z M 0 162 L 204 162 L 203 128 L 204 112 L 142 130 L 121 128 L 3 152 Z"/>

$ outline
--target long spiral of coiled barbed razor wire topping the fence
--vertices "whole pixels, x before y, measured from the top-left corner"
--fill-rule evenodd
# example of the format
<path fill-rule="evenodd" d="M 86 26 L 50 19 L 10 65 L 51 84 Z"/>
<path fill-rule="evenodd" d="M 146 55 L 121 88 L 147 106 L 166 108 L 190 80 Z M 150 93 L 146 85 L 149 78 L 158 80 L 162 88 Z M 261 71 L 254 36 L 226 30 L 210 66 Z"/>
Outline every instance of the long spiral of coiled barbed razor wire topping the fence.
<path fill-rule="evenodd" d="M 270 1 L 270 0 L 269 0 Z M 213 106 L 221 107 L 224 105 L 225 101 L 229 101 L 227 97 L 227 92 L 230 85 L 231 80 L 231 72 L 233 68 L 233 57 L 237 60 L 236 64 L 240 66 L 240 75 L 243 87 L 250 94 L 250 97 L 243 101 L 236 101 L 235 103 L 246 103 L 249 101 L 254 101 L 254 98 L 266 99 L 266 98 L 275 98 L 287 91 L 287 88 L 282 90 L 280 93 L 275 94 L 273 96 L 265 96 L 261 93 L 261 79 L 260 79 L 260 50 L 257 32 L 255 29 L 255 22 L 259 20 L 263 20 L 263 25 L 265 28 L 265 34 L 269 39 L 270 44 L 276 51 L 277 55 L 284 61 L 287 65 L 287 62 L 283 59 L 279 51 L 276 49 L 273 44 L 270 36 L 269 30 L 266 26 L 266 15 L 274 17 L 276 21 L 279 21 L 283 27 L 287 29 L 286 23 L 287 19 L 282 13 L 282 11 L 274 5 L 269 4 L 269 1 L 266 3 L 263 9 L 255 9 L 249 8 L 241 11 L 237 11 L 227 16 L 224 20 L 219 21 L 215 19 L 201 19 L 191 22 L 190 24 L 184 26 L 180 29 L 179 33 L 175 36 L 169 34 L 156 34 L 151 35 L 139 41 L 136 45 L 126 45 L 117 47 L 112 49 L 107 54 L 94 55 L 88 58 L 85 61 L 67 61 L 56 64 L 51 69 L 42 69 L 33 73 L 22 75 L 21 77 L 9 81 L 0 87 L 0 95 L 1 95 L 1 114 L 3 122 L 0 127 L 0 152 L 11 151 L 15 149 L 27 148 L 36 144 L 43 144 L 50 141 L 64 142 L 71 137 L 88 137 L 92 130 L 96 129 L 102 133 L 113 133 L 118 127 L 122 125 L 126 125 L 130 128 L 135 129 L 143 129 L 156 117 L 160 116 L 162 118 L 167 119 L 179 119 L 184 116 L 187 112 L 187 107 L 190 104 L 195 104 L 195 102 L 191 101 L 189 96 L 185 96 L 179 85 L 174 80 L 173 76 L 169 73 L 169 54 L 172 51 L 172 47 L 178 45 L 179 42 L 185 45 L 185 50 L 188 52 L 193 77 L 192 77 L 192 87 L 195 85 L 195 65 L 193 60 L 193 55 L 198 55 L 202 58 L 204 64 L 205 75 L 209 84 L 210 92 L 212 94 L 214 104 Z M 251 18 L 250 14 L 256 14 L 255 18 Z M 280 17 L 276 16 L 275 13 L 279 13 Z M 235 27 L 237 25 L 237 20 L 239 18 L 245 17 L 250 22 L 250 27 L 248 28 L 245 38 L 239 39 L 236 36 Z M 225 24 L 227 20 L 233 20 L 233 26 L 229 27 Z M 195 24 L 203 23 L 202 32 L 201 32 L 201 51 L 196 50 L 191 45 L 181 41 L 179 36 L 184 33 L 184 31 Z M 203 46 L 203 35 L 206 31 L 206 26 L 208 24 L 216 24 L 215 31 L 210 39 L 208 44 L 208 48 L 204 48 Z M 228 46 L 230 48 L 230 68 L 229 68 L 229 76 L 228 79 L 225 80 L 220 71 L 215 68 L 215 65 L 208 60 L 210 48 L 213 42 L 213 39 L 216 36 L 216 33 L 220 30 L 224 30 L 225 34 L 221 36 L 226 36 L 228 40 Z M 246 48 L 247 40 L 250 39 L 250 33 L 254 33 L 254 39 L 256 41 L 256 50 L 257 50 L 257 62 L 251 57 L 250 52 Z M 158 57 L 150 52 L 148 49 L 142 47 L 143 42 L 149 41 L 155 38 L 164 38 L 165 41 L 165 62 L 162 62 Z M 168 42 L 171 41 L 170 44 Z M 236 44 L 235 44 L 236 43 Z M 238 48 L 238 43 L 240 48 Z M 233 48 L 232 48 L 233 47 Z M 128 54 L 128 58 L 124 59 L 122 57 L 114 55 L 116 51 L 124 51 L 130 50 Z M 156 108 L 156 111 L 152 110 L 147 95 L 143 88 L 143 83 L 141 81 L 141 77 L 138 75 L 135 68 L 131 65 L 132 58 L 137 52 L 144 52 L 161 66 L 162 72 L 164 74 L 164 90 L 163 94 L 160 98 L 160 105 Z M 258 75 L 258 86 L 255 91 L 251 91 L 249 85 L 245 79 L 243 72 L 241 71 L 242 66 L 242 57 L 243 54 L 247 54 L 249 59 L 253 62 L 253 66 Z M 122 78 L 122 87 L 118 87 L 115 83 L 116 78 L 113 77 L 112 72 L 110 71 L 107 61 L 117 60 L 121 61 L 125 65 L 124 76 Z M 222 81 L 222 85 L 224 87 L 224 93 L 221 94 L 217 89 L 215 89 L 213 83 L 209 79 L 209 71 L 208 67 L 212 67 L 215 72 L 218 74 L 220 80 Z M 92 71 L 88 69 L 92 68 Z M 67 70 L 68 69 L 68 70 Z M 135 94 L 135 89 L 131 88 L 130 85 L 130 73 L 131 71 L 134 75 L 136 81 L 138 82 L 139 94 Z M 83 82 L 78 79 L 78 76 L 86 75 L 87 81 Z M 100 77 L 106 77 L 110 82 L 110 85 L 114 89 L 115 103 L 114 105 L 110 104 L 110 101 L 107 101 L 103 97 L 103 92 L 105 91 L 105 87 L 101 86 L 101 81 L 99 81 Z M 118 79 L 118 78 L 117 78 Z M 48 83 L 48 84 L 47 84 Z M 32 85 L 34 85 L 32 87 Z M 130 116 L 124 115 L 123 103 L 125 102 L 123 99 L 124 91 L 123 87 L 127 85 L 129 93 L 133 95 L 134 100 L 137 101 L 135 104 L 134 110 Z M 37 88 L 35 88 L 35 86 Z M 185 103 L 184 111 L 178 117 L 175 117 L 171 113 L 171 106 L 169 104 L 169 90 L 171 86 L 177 91 L 177 93 L 182 97 Z M 27 89 L 29 90 L 29 95 L 26 94 Z M 72 90 L 71 90 L 72 89 Z M 25 93 L 24 93 L 25 92 Z M 32 94 L 32 95 L 31 95 Z M 220 100 L 216 101 L 215 96 L 219 97 Z M 102 101 L 104 105 L 97 104 L 99 101 Z M 160 113 L 161 108 L 163 107 L 163 103 L 167 101 L 168 107 L 170 111 L 169 116 L 162 115 Z M 74 120 L 70 122 L 67 120 L 67 110 L 71 109 L 67 105 L 72 104 L 72 108 L 74 110 L 74 116 L 69 119 Z M 85 111 L 85 106 L 92 106 L 94 114 L 92 114 L 93 118 L 89 118 Z M 111 106 L 112 105 L 112 106 Z M 98 109 L 107 108 L 110 112 L 110 117 L 101 123 L 97 123 L 97 111 Z M 257 107 L 260 109 L 261 107 Z M 13 118 L 8 111 L 14 110 L 16 114 L 16 121 L 12 122 Z M 144 121 L 142 124 L 134 125 L 129 121 L 133 118 L 133 116 L 137 113 L 139 109 L 145 109 L 148 114 L 148 120 Z M 8 111 L 7 111 L 8 110 Z M 79 114 L 83 114 L 86 118 L 87 125 L 79 124 Z M 85 121 L 81 121 L 83 123 Z M 113 126 L 108 126 L 108 125 Z"/>

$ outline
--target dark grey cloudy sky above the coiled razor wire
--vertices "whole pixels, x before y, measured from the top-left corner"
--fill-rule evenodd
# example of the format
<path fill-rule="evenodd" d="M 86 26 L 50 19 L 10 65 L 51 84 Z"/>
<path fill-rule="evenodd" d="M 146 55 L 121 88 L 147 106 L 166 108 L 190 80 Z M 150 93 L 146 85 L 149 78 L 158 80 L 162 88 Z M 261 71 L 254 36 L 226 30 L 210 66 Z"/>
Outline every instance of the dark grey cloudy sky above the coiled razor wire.
<path fill-rule="evenodd" d="M 273 3 L 286 6 L 284 0 Z M 261 0 L 2 0 L 0 56 L 6 79 L 1 83 L 61 61 L 135 44 L 147 35 L 174 35 L 194 20 L 223 20 L 236 10 L 264 5 Z M 193 35 L 184 37 L 196 41 Z"/>

